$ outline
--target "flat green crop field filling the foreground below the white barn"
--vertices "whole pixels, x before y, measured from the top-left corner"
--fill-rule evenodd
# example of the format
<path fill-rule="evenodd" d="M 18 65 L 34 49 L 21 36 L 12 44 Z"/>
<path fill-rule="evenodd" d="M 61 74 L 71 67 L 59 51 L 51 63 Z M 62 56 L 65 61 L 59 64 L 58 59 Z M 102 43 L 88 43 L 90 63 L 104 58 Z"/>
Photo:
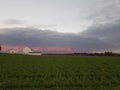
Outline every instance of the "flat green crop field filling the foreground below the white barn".
<path fill-rule="evenodd" d="M 0 90 L 120 90 L 120 57 L 0 54 Z"/>

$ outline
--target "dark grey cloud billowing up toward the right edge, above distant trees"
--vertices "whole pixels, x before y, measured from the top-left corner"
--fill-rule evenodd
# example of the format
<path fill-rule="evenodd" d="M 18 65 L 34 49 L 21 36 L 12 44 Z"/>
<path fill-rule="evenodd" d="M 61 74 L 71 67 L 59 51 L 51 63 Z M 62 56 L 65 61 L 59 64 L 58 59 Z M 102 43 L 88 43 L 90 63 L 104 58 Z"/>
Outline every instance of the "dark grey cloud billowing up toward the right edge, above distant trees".
<path fill-rule="evenodd" d="M 115 50 L 120 48 L 120 22 L 92 26 L 81 33 L 87 38 L 98 38 L 108 44 L 104 50 Z"/>

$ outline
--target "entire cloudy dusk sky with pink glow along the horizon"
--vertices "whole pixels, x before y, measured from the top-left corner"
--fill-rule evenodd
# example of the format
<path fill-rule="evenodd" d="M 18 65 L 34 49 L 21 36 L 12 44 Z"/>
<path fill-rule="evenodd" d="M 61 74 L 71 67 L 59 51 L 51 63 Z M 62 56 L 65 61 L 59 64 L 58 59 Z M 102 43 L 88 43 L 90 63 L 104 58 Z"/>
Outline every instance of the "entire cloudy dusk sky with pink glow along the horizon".
<path fill-rule="evenodd" d="M 120 0 L 0 0 L 0 44 L 47 52 L 120 52 Z"/>

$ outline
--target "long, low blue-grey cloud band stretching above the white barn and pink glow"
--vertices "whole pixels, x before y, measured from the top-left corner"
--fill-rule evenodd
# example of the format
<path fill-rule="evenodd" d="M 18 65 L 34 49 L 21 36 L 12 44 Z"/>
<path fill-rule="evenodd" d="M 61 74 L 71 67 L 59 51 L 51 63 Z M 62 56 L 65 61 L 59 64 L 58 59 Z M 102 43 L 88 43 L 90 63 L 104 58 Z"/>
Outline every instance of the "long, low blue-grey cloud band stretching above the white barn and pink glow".
<path fill-rule="evenodd" d="M 4 45 L 69 47 L 80 52 L 103 50 L 108 47 L 108 44 L 99 38 L 82 36 L 81 34 L 65 34 L 35 28 L 5 30 L 7 30 L 6 33 L 0 34 L 0 43 Z"/>

